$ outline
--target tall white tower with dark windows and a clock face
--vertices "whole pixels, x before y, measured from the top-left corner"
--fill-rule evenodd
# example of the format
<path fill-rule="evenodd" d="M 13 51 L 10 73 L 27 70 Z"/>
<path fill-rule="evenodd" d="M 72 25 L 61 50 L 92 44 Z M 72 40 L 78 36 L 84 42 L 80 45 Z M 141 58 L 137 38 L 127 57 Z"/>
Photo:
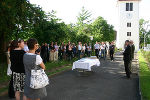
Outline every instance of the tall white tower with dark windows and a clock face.
<path fill-rule="evenodd" d="M 116 46 L 124 48 L 125 40 L 133 40 L 139 50 L 139 2 L 141 0 L 118 0 L 119 29 Z"/>

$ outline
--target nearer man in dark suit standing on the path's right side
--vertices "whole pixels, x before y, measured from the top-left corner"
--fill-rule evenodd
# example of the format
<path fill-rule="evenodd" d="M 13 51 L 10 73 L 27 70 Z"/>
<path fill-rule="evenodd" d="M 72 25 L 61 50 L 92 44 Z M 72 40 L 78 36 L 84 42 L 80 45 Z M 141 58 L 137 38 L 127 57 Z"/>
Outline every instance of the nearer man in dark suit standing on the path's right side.
<path fill-rule="evenodd" d="M 125 66 L 125 72 L 127 78 L 130 78 L 130 62 L 131 62 L 131 46 L 130 46 L 130 41 L 126 40 L 125 41 L 125 51 L 123 52 L 123 60 L 124 60 L 124 66 Z"/>

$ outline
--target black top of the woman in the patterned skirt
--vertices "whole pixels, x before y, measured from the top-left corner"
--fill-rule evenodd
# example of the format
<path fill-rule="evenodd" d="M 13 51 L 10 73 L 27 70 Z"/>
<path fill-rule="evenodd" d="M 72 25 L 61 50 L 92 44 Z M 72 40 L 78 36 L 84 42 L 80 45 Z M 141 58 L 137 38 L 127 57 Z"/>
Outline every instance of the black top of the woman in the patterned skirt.
<path fill-rule="evenodd" d="M 10 51 L 11 70 L 16 73 L 25 73 L 23 64 L 24 50 Z"/>

